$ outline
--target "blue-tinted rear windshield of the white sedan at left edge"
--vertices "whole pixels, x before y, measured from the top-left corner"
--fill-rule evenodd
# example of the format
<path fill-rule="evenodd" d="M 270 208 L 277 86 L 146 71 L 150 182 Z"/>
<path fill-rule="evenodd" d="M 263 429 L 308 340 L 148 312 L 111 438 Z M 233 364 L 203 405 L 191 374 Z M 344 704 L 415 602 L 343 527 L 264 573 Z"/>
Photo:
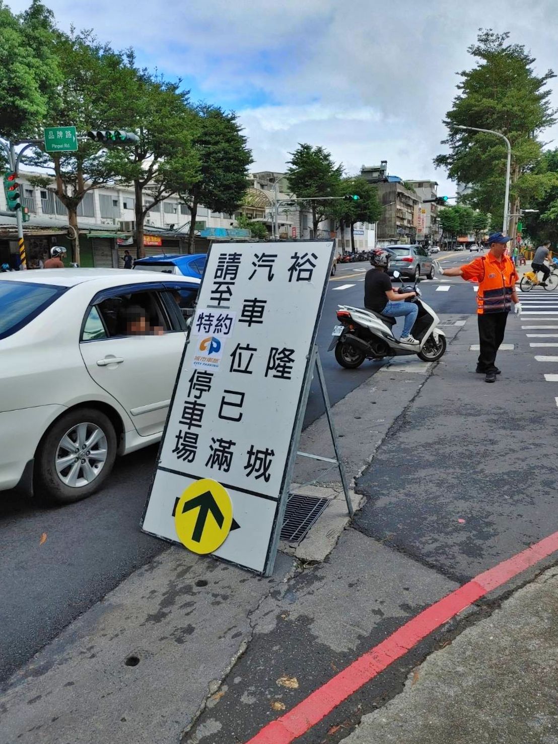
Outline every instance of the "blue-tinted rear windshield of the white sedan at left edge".
<path fill-rule="evenodd" d="M 0 339 L 36 318 L 66 289 L 52 284 L 0 280 Z"/>

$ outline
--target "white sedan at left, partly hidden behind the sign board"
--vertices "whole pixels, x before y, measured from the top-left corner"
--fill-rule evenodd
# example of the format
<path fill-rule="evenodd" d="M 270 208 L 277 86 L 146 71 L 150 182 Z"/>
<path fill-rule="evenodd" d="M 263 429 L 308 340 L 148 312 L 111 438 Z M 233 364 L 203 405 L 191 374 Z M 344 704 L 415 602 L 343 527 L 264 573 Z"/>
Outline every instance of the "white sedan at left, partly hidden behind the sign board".
<path fill-rule="evenodd" d="M 200 279 L 124 269 L 0 275 L 0 490 L 90 496 L 161 438 Z"/>

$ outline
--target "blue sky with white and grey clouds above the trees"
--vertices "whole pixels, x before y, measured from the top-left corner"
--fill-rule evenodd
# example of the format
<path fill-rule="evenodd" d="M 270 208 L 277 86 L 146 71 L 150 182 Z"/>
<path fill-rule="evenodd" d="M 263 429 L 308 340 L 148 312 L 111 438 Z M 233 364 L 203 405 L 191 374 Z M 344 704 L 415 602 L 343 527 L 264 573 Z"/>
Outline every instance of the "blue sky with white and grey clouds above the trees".
<path fill-rule="evenodd" d="M 443 116 L 478 28 L 510 31 L 558 71 L 556 0 L 45 0 L 60 28 L 93 28 L 138 63 L 181 77 L 192 100 L 240 117 L 251 170 L 285 170 L 300 142 L 330 150 L 348 174 L 388 161 L 403 179 L 433 179 L 455 194 L 444 170 Z M 7 0 L 14 12 L 27 1 Z M 558 107 L 558 79 L 552 103 Z M 557 145 L 558 125 L 545 141 Z"/>

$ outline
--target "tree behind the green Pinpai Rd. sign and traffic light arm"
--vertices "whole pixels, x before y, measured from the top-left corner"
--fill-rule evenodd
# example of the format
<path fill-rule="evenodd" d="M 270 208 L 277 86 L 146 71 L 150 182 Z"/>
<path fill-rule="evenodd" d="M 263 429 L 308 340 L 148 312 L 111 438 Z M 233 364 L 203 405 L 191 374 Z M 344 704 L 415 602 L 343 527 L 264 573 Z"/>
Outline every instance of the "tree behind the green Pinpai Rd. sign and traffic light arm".
<path fill-rule="evenodd" d="M 98 43 L 91 31 L 57 33 L 56 39 L 63 81 L 48 124 L 72 124 L 78 132 L 127 128 L 129 101 L 134 100 L 138 83 L 132 53 L 116 52 Z M 81 140 L 75 153 L 43 153 L 37 149 L 25 158 L 25 164 L 54 170 L 57 196 L 68 210 L 68 223 L 74 228 L 73 258 L 80 263 L 77 208 L 86 193 L 115 179 L 106 147 Z"/>

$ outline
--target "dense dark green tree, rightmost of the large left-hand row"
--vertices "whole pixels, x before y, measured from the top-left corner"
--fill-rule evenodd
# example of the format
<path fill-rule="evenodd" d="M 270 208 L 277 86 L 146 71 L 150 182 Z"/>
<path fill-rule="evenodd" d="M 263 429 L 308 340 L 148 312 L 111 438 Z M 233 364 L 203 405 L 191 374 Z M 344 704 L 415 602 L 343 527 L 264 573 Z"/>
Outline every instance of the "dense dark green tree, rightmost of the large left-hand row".
<path fill-rule="evenodd" d="M 219 106 L 204 103 L 198 106 L 196 113 L 198 120 L 192 147 L 199 167 L 191 186 L 181 190 L 182 199 L 190 208 L 190 252 L 193 252 L 196 237 L 198 206 L 233 214 L 246 193 L 248 165 L 252 162 L 246 137 L 234 112 L 224 112 Z"/>

